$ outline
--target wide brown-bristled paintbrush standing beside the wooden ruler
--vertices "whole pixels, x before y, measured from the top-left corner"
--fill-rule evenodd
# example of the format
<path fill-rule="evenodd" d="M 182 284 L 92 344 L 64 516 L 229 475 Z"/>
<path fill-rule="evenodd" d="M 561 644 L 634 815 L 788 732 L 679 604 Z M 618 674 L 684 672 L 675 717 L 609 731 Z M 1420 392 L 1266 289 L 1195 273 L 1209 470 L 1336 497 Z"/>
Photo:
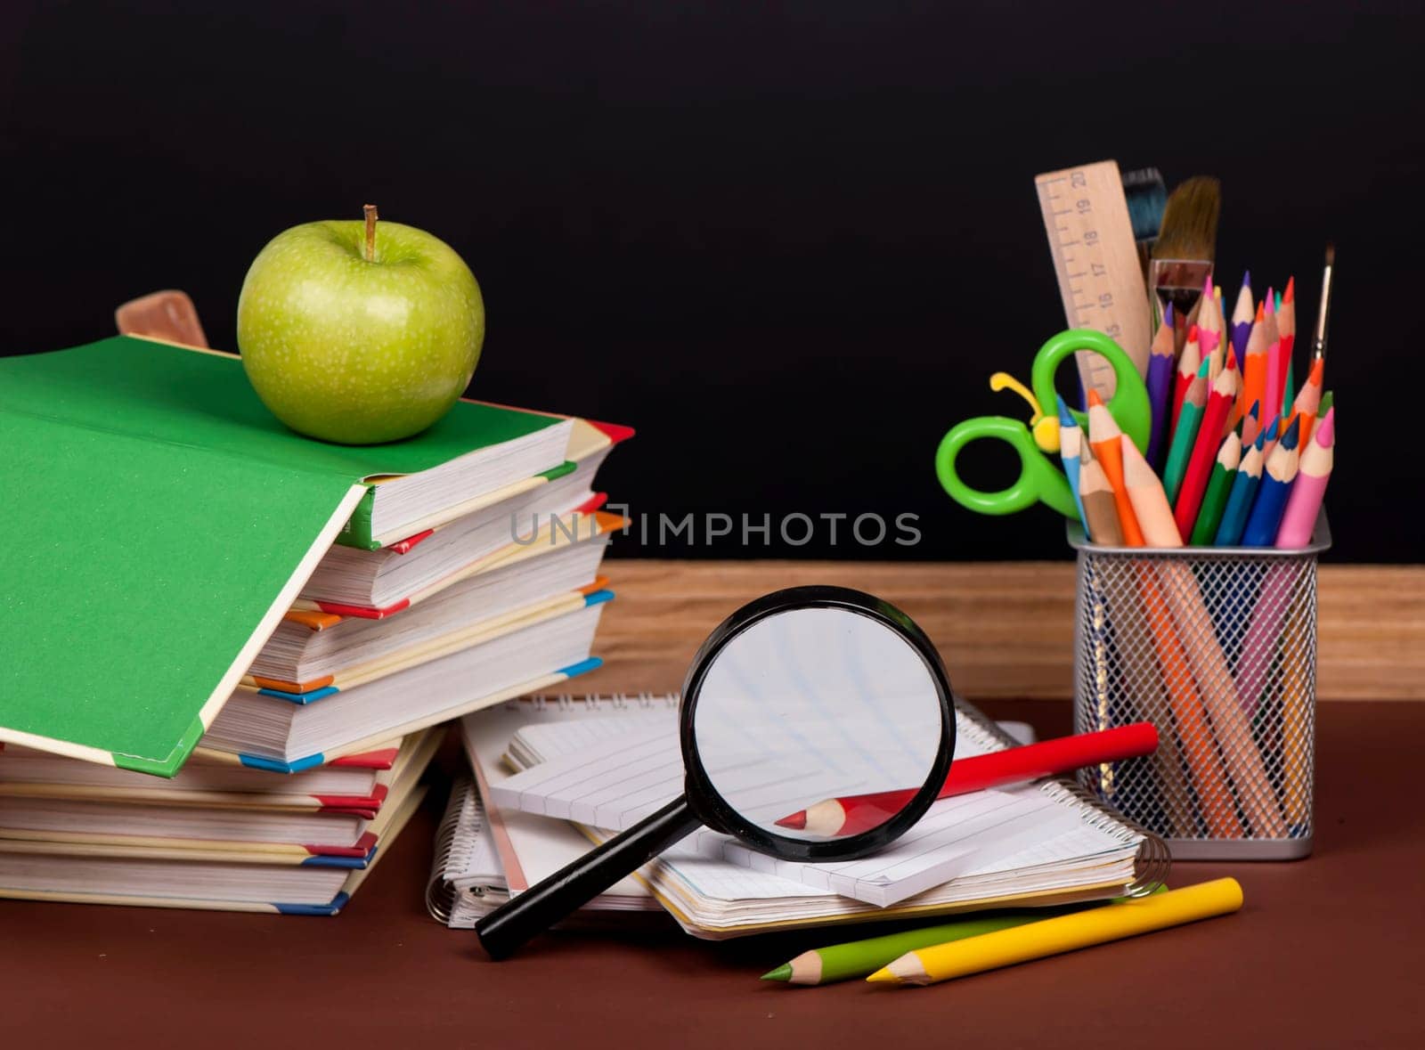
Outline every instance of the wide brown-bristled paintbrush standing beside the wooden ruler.
<path fill-rule="evenodd" d="M 1154 319 L 1161 318 L 1167 305 L 1173 303 L 1180 333 L 1197 322 L 1197 302 L 1203 296 L 1203 285 L 1213 275 L 1221 207 L 1223 184 L 1196 175 L 1168 195 L 1163 209 L 1163 227 L 1149 262 L 1149 298 Z M 1178 343 L 1181 346 L 1181 336 Z"/>

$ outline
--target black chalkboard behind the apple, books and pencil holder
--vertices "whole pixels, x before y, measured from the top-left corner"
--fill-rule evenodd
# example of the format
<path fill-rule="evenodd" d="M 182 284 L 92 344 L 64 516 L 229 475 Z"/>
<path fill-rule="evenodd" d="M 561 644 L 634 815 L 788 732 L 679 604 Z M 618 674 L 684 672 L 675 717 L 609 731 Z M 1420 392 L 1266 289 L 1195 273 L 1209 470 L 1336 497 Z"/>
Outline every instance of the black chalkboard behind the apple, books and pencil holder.
<path fill-rule="evenodd" d="M 473 396 L 638 427 L 600 476 L 616 501 L 654 524 L 913 513 L 922 531 L 643 553 L 1059 557 L 1054 514 L 976 517 L 931 460 L 959 419 L 1022 415 L 988 375 L 1027 380 L 1063 328 L 1035 172 L 1114 157 L 1170 185 L 1218 175 L 1220 284 L 1295 274 L 1302 331 L 1335 239 L 1331 557 L 1419 558 L 1416 4 L 10 0 L 0 17 L 6 353 L 101 338 L 164 286 L 232 348 L 258 249 L 375 201 L 480 279 Z M 982 482 L 1009 469 L 982 463 Z"/>

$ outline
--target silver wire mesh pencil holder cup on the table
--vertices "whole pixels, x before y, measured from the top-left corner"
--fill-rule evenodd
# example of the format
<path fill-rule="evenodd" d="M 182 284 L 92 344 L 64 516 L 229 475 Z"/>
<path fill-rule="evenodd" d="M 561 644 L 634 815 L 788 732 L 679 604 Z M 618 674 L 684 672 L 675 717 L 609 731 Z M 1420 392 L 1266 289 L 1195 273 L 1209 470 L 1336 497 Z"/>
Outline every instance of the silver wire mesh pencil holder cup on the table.
<path fill-rule="evenodd" d="M 1298 550 L 1100 547 L 1077 523 L 1069 543 L 1074 731 L 1150 721 L 1160 741 L 1080 784 L 1178 859 L 1307 856 L 1325 514 Z"/>

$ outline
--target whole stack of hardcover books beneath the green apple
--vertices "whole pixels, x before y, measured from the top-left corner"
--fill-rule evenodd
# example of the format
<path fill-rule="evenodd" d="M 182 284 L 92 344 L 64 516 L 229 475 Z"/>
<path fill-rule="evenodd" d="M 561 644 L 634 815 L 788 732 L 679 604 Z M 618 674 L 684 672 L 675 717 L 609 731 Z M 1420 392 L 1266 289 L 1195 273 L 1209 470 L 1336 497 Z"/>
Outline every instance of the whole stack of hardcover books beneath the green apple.
<path fill-rule="evenodd" d="M 0 896 L 335 913 L 436 727 L 598 664 L 631 432 L 462 402 L 299 437 L 228 355 L 117 338 L 0 363 L 16 454 Z"/>

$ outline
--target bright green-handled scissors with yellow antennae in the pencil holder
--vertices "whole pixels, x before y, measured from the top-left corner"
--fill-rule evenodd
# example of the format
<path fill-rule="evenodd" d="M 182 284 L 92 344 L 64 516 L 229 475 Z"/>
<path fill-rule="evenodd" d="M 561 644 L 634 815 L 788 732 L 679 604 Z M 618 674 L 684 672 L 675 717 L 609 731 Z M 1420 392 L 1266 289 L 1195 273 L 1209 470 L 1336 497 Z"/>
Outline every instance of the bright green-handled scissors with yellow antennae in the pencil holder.
<path fill-rule="evenodd" d="M 1054 406 L 1054 373 L 1064 358 L 1076 350 L 1093 350 L 1109 359 L 1117 380 L 1113 397 L 1109 400 L 1109 412 L 1140 452 L 1147 447 L 1153 410 L 1137 366 L 1123 348 L 1102 332 L 1069 329 L 1053 336 L 1035 355 L 1035 368 L 1030 373 L 1033 392 L 1003 372 L 990 376 L 992 389 L 1009 388 L 1029 402 L 1033 416 L 1027 426 L 1007 416 L 979 416 L 966 419 L 940 439 L 940 447 L 935 452 L 935 473 L 956 503 L 980 514 L 1015 514 L 1043 501 L 1064 517 L 1079 517 L 1069 479 L 1046 454 L 1059 452 L 1059 416 L 1053 412 L 1045 415 L 1040 407 Z M 1079 420 L 1079 426 L 1086 426 L 1082 412 L 1074 412 L 1073 416 Z M 970 442 L 986 437 L 1007 442 L 1019 454 L 1019 477 L 999 492 L 970 489 L 955 470 L 960 450 Z"/>

